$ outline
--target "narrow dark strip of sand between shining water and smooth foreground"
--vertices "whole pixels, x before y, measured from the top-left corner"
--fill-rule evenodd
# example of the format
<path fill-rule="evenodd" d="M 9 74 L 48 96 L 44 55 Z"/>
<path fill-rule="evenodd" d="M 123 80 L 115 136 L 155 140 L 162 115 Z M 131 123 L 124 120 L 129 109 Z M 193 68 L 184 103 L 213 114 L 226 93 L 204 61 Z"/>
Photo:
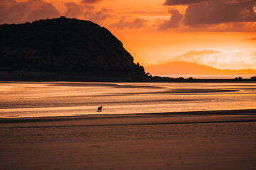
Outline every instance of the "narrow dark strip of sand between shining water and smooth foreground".
<path fill-rule="evenodd" d="M 256 109 L 41 118 L 0 118 L 0 129 L 97 128 L 147 125 L 196 125 L 209 123 L 256 123 Z"/>

